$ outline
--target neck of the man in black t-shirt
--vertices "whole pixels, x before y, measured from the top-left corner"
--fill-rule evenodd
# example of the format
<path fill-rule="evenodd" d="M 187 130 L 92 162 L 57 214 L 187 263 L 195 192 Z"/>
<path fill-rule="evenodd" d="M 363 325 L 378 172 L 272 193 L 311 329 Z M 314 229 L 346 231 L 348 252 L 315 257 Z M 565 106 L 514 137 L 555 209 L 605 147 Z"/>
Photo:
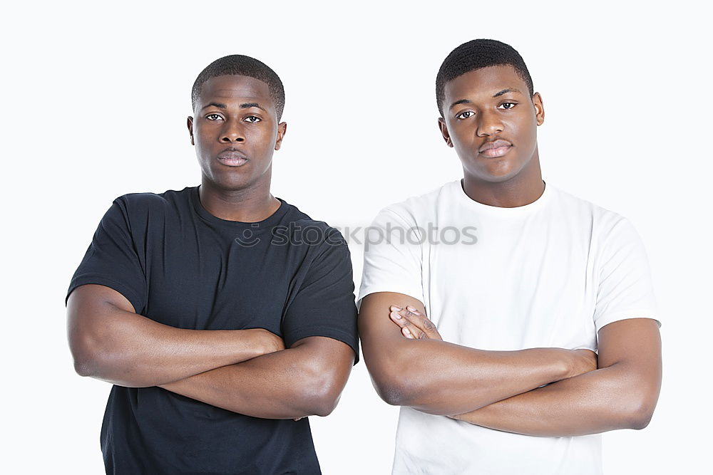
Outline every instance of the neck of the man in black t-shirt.
<path fill-rule="evenodd" d="M 225 189 L 204 176 L 200 181 L 198 197 L 202 207 L 213 216 L 245 223 L 267 219 L 280 205 L 279 199 L 270 194 L 270 182 L 266 187 Z"/>

